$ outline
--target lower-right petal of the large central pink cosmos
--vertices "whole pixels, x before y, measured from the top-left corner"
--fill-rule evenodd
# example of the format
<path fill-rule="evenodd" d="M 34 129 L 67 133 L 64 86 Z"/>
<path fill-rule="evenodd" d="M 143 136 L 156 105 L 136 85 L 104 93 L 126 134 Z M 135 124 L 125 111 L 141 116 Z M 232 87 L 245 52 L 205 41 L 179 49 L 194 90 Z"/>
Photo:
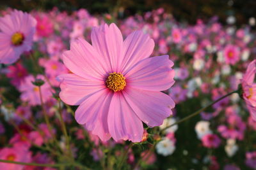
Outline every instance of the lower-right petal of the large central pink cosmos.
<path fill-rule="evenodd" d="M 124 90 L 124 97 L 132 110 L 145 124 L 150 127 L 163 124 L 163 120 L 172 115 L 175 103 L 163 92 L 152 92 L 133 89 Z"/>

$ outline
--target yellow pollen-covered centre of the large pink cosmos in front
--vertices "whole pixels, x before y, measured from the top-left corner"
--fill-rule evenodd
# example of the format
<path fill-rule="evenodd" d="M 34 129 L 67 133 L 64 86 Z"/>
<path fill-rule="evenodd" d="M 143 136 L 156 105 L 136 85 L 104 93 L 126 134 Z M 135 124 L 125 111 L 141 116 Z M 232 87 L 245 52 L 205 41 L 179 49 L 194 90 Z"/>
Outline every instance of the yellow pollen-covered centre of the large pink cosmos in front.
<path fill-rule="evenodd" d="M 125 77 L 121 73 L 109 73 L 109 76 L 106 80 L 107 87 L 114 92 L 117 92 L 119 90 L 123 90 L 126 82 Z"/>

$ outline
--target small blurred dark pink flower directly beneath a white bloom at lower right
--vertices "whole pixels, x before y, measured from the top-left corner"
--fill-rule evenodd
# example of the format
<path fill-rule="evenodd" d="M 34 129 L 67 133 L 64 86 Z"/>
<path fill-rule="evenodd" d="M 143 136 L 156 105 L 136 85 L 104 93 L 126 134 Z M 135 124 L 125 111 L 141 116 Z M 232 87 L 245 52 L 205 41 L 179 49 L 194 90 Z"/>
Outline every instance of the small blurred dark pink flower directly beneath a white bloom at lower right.
<path fill-rule="evenodd" d="M 220 138 L 216 134 L 207 134 L 202 138 L 202 143 L 206 148 L 218 148 Z"/>

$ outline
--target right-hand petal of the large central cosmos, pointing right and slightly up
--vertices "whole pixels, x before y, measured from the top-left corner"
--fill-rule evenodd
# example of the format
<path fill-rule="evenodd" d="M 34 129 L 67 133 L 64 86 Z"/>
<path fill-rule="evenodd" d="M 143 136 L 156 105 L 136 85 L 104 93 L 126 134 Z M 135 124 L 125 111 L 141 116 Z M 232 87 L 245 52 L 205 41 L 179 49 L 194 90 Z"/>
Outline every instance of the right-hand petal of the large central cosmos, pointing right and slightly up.
<path fill-rule="evenodd" d="M 129 86 L 141 90 L 162 91 L 172 87 L 175 72 L 168 55 L 141 60 L 125 77 Z"/>

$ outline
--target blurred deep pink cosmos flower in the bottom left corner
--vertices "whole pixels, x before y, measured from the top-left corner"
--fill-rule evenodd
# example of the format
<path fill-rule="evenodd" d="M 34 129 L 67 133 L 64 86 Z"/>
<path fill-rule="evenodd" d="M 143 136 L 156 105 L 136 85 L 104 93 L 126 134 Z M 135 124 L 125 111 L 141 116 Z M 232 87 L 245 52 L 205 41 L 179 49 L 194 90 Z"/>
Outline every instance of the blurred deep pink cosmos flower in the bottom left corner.
<path fill-rule="evenodd" d="M 0 159 L 12 160 L 16 162 L 31 162 L 31 152 L 22 145 L 13 146 L 13 148 L 3 148 L 0 150 Z M 19 164 L 6 164 L 0 162 L 0 169 L 22 170 L 24 166 Z"/>

